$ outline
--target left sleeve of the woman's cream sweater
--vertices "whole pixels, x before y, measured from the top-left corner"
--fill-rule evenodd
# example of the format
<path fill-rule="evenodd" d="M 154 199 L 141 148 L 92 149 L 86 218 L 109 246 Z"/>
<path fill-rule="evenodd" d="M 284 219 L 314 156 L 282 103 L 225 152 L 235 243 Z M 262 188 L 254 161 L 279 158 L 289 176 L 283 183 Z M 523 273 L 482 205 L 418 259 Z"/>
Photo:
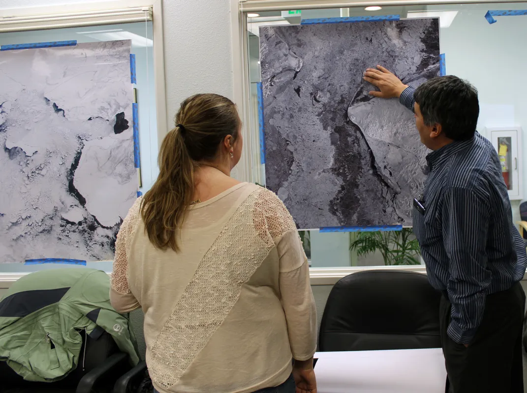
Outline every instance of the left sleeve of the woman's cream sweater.
<path fill-rule="evenodd" d="M 115 241 L 115 257 L 110 278 L 110 303 L 118 313 L 129 313 L 141 307 L 128 286 L 127 253 L 139 218 L 141 199 L 138 198 L 128 211 Z"/>

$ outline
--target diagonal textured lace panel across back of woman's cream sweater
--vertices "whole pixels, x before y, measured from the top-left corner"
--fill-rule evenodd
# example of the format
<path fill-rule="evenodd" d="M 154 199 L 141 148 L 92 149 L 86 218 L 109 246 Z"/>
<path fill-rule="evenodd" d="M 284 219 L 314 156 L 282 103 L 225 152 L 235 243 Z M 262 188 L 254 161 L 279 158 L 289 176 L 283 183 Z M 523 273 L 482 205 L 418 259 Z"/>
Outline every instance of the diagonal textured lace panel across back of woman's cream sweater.
<path fill-rule="evenodd" d="M 159 386 L 168 389 L 181 378 L 236 304 L 242 285 L 275 246 L 267 223 L 280 231 L 280 217 L 288 220 L 287 209 L 278 202 L 267 190 L 255 190 L 203 256 L 150 350 L 150 375 Z"/>

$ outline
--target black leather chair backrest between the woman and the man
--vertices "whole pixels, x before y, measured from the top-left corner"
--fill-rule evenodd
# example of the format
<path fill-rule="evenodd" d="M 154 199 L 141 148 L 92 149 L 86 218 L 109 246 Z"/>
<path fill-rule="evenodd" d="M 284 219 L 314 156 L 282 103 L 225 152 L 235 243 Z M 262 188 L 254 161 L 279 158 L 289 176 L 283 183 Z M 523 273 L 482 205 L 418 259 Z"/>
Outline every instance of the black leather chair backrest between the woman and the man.
<path fill-rule="evenodd" d="M 420 273 L 369 270 L 346 276 L 329 294 L 319 349 L 440 348 L 440 298 Z"/>

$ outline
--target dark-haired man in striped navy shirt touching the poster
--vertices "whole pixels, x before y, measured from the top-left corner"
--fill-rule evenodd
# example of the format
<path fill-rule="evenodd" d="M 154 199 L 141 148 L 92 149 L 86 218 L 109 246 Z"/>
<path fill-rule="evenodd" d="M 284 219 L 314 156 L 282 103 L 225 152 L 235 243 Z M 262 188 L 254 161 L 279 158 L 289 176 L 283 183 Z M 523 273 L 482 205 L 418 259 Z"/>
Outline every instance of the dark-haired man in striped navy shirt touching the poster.
<path fill-rule="evenodd" d="M 512 222 L 497 153 L 476 132 L 477 91 L 455 76 L 417 89 L 382 66 L 364 80 L 415 113 L 429 174 L 414 200 L 414 232 L 432 286 L 442 291 L 441 341 L 454 393 L 523 393 L 519 281 L 527 256 Z"/>

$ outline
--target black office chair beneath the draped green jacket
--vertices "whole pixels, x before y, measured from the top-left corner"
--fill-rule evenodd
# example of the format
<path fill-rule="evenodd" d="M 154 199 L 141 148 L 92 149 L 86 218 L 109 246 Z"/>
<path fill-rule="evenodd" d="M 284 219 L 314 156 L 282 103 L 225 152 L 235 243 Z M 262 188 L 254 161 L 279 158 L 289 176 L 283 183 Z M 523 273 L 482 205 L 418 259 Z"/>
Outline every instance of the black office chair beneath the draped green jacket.
<path fill-rule="evenodd" d="M 111 393 L 116 379 L 130 370 L 128 355 L 119 351 L 108 332 L 92 338 L 79 332 L 82 347 L 77 368 L 55 382 L 31 382 L 0 361 L 2 393 Z M 86 349 L 84 351 L 84 348 Z"/>

